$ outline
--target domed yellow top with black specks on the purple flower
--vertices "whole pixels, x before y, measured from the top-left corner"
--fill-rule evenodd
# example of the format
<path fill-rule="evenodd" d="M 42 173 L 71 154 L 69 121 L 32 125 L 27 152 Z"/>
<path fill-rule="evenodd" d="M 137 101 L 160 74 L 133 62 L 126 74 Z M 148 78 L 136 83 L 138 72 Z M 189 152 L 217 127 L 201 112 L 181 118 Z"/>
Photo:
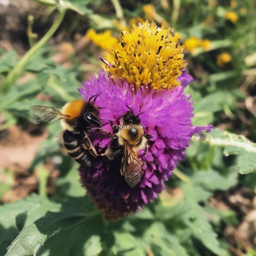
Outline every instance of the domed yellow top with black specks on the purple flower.
<path fill-rule="evenodd" d="M 171 28 L 158 27 L 154 22 L 133 26 L 123 31 L 121 40 L 110 51 L 105 69 L 128 83 L 157 90 L 180 85 L 177 78 L 186 67 L 180 37 Z"/>

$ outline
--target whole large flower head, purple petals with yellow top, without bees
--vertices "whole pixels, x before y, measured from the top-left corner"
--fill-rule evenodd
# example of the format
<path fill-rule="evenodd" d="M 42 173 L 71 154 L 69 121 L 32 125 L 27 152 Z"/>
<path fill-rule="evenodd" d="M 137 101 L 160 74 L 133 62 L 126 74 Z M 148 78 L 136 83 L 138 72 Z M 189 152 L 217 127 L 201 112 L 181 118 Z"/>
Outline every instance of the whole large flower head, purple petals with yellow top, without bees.
<path fill-rule="evenodd" d="M 90 139 L 99 156 L 92 166 L 81 166 L 82 185 L 106 220 L 114 221 L 137 212 L 164 189 L 194 133 L 211 126 L 193 126 L 193 107 L 184 88 L 193 81 L 184 70 L 183 47 L 172 29 L 154 22 L 133 26 L 114 43 L 109 65 L 83 83 L 79 92 L 86 100 L 94 95 L 104 133 L 92 131 Z M 111 147 L 112 125 L 120 125 L 128 111 L 139 115 L 149 150 L 138 151 L 143 162 L 139 183 L 131 187 L 120 173 L 122 157 L 109 160 L 104 152 Z"/>

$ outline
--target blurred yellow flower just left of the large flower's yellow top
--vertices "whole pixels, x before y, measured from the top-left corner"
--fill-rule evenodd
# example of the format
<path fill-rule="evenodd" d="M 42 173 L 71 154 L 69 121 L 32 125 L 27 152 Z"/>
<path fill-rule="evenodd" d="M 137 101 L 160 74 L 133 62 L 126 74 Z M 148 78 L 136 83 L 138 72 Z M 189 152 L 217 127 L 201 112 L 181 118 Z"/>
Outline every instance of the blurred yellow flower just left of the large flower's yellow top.
<path fill-rule="evenodd" d="M 111 50 L 117 44 L 117 39 L 111 35 L 110 30 L 96 33 L 94 29 L 88 29 L 85 37 L 104 50 Z"/>

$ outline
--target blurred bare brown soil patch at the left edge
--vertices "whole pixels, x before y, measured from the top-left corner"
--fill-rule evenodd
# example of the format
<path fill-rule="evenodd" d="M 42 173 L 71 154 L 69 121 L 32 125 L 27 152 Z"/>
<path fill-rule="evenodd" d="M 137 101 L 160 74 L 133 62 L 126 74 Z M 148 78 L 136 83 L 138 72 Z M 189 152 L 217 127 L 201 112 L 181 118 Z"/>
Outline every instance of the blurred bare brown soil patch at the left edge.
<path fill-rule="evenodd" d="M 0 168 L 11 172 L 11 189 L 6 191 L 1 201 L 13 202 L 27 197 L 32 192 L 38 192 L 38 178 L 35 171 L 29 172 L 29 166 L 35 157 L 40 144 L 46 139 L 47 133 L 40 126 L 30 124 L 27 130 L 20 126 L 11 126 L 2 131 L 0 136 Z M 51 166 L 47 166 L 52 170 Z M 50 173 L 47 192 L 54 192 L 53 181 L 58 177 L 58 171 Z M 5 183 L 8 178 L 5 172 L 0 175 L 0 182 Z"/>

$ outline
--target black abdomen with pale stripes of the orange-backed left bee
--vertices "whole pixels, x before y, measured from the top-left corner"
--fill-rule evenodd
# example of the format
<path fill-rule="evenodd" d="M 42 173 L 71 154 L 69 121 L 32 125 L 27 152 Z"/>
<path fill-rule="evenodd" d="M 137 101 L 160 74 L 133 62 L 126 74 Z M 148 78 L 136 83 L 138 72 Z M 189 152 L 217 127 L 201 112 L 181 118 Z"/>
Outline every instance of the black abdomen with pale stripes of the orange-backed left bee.
<path fill-rule="evenodd" d="M 84 148 L 84 138 L 80 133 L 66 130 L 63 134 L 64 146 L 68 154 L 80 165 L 92 165 L 91 154 Z"/>

